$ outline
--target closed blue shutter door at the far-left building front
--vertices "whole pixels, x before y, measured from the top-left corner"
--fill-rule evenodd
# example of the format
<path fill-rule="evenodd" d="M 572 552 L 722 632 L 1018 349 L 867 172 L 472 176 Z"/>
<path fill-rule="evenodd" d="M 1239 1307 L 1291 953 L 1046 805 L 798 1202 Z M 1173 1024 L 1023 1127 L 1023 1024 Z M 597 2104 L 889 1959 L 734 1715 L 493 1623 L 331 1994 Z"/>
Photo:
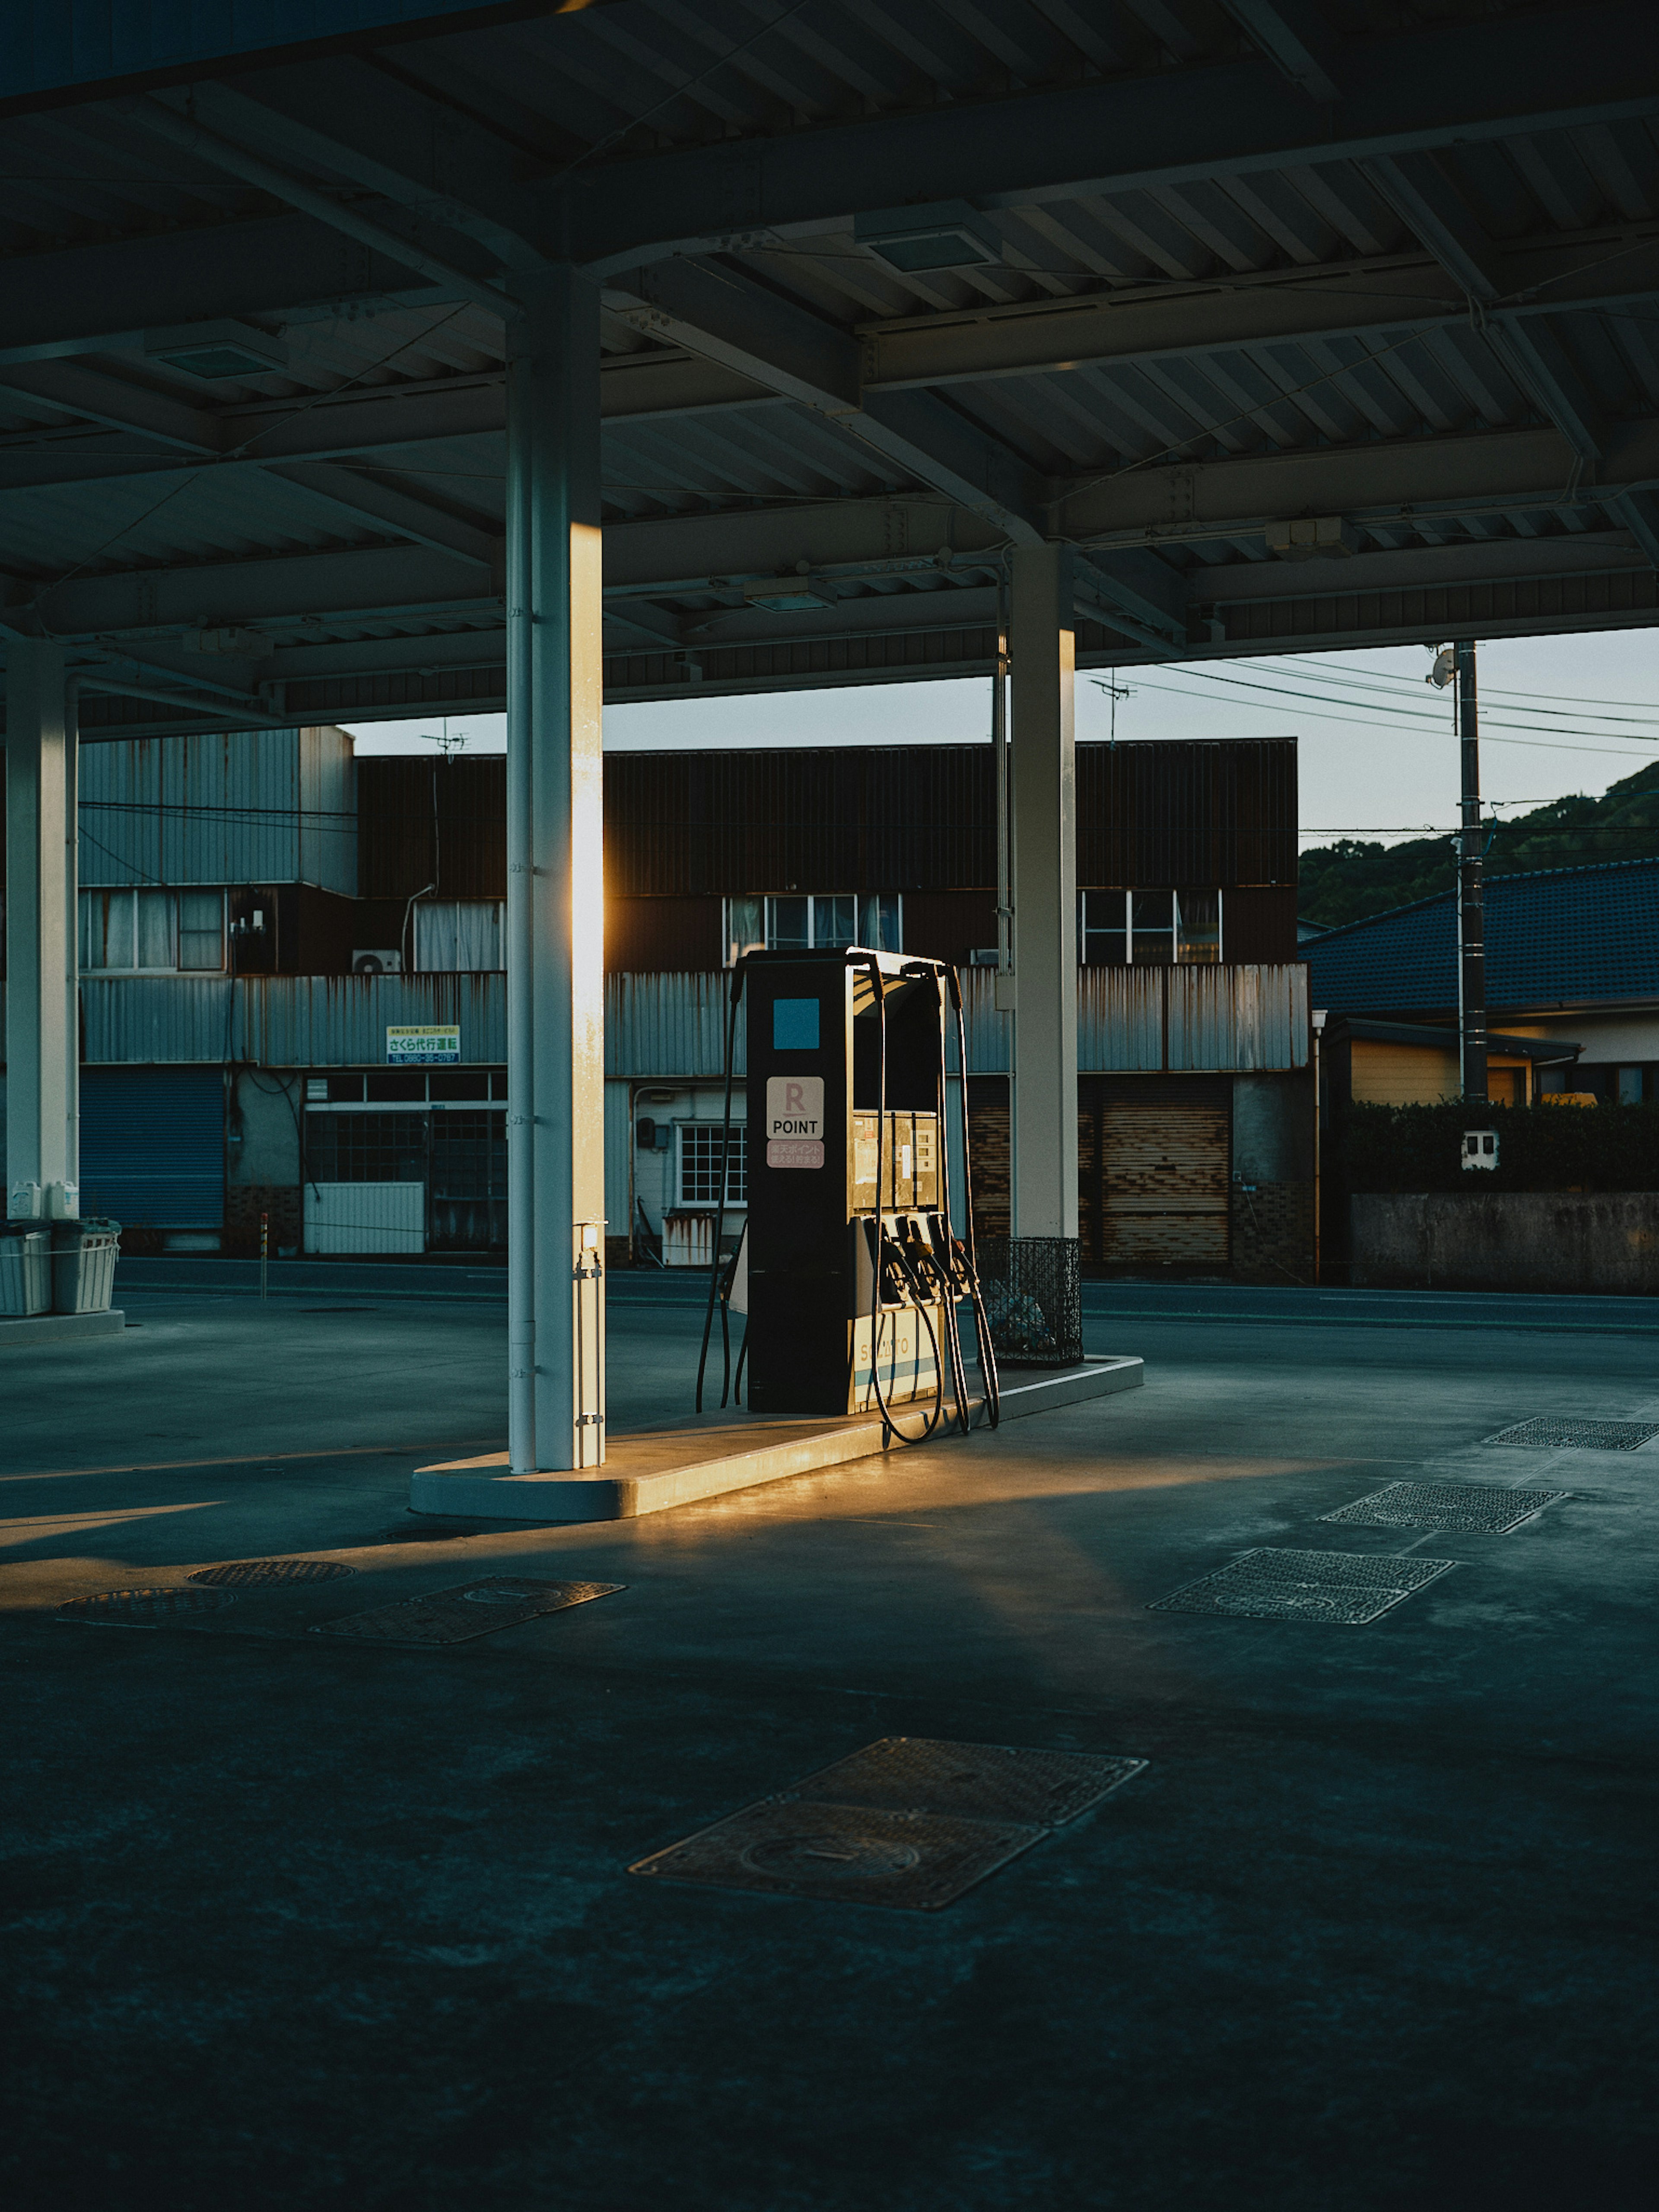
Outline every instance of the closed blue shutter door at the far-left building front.
<path fill-rule="evenodd" d="M 124 1228 L 221 1228 L 223 1073 L 82 1068 L 80 1210 L 111 1217 Z"/>

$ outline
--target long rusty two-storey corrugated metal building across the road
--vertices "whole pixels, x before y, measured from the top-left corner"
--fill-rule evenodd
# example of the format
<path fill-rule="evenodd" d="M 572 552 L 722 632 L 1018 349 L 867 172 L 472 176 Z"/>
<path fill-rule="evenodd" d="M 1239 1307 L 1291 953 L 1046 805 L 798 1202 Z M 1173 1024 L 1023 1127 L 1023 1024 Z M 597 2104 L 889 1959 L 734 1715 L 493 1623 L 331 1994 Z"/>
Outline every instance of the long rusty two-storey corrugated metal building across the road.
<path fill-rule="evenodd" d="M 248 1252 L 263 1217 L 272 1250 L 500 1254 L 504 761 L 354 761 L 330 728 L 84 761 L 84 1210 L 128 1250 Z M 1292 739 L 1077 748 L 1088 1265 L 1310 1274 L 1294 825 Z M 723 971 L 754 945 L 962 967 L 978 1217 L 1006 1230 L 993 885 L 987 745 L 613 754 L 613 1263 L 708 1254 Z M 411 1029 L 453 1057 L 389 1064 Z"/>

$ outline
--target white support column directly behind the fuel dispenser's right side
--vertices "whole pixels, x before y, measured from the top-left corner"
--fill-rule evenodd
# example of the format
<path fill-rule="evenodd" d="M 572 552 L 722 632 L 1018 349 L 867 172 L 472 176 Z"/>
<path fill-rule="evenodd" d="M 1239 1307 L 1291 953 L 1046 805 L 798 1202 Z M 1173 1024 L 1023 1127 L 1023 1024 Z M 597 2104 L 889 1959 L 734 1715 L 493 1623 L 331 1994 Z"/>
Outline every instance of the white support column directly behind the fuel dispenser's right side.
<path fill-rule="evenodd" d="M 1077 1237 L 1077 770 L 1071 555 L 1009 555 L 1015 1237 Z"/>

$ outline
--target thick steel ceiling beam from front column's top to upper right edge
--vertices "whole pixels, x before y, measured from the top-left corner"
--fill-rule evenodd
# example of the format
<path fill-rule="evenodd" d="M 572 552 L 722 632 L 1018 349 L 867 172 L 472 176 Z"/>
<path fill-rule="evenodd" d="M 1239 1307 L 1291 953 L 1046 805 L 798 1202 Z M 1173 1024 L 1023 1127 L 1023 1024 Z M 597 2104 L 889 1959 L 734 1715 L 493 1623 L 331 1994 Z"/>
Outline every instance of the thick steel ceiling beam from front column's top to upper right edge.
<path fill-rule="evenodd" d="M 1367 38 L 1336 102 L 1310 102 L 1265 60 L 967 100 L 922 113 L 582 166 L 566 188 L 571 250 L 595 270 L 706 250 L 734 230 L 799 234 L 847 215 L 945 197 L 1015 208 L 1203 184 L 1531 131 L 1630 122 L 1659 108 L 1659 15 L 1601 0 Z"/>

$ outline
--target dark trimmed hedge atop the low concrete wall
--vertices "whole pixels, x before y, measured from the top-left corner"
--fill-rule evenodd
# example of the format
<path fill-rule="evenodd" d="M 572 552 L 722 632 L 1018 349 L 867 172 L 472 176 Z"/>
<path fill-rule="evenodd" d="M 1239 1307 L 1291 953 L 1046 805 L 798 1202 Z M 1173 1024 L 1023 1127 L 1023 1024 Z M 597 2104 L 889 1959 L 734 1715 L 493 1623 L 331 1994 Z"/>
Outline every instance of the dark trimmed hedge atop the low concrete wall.
<path fill-rule="evenodd" d="M 1498 1166 L 1464 1168 L 1462 1133 L 1498 1130 Z M 1655 1106 L 1349 1106 L 1336 1130 L 1349 1190 L 1659 1190 Z"/>

